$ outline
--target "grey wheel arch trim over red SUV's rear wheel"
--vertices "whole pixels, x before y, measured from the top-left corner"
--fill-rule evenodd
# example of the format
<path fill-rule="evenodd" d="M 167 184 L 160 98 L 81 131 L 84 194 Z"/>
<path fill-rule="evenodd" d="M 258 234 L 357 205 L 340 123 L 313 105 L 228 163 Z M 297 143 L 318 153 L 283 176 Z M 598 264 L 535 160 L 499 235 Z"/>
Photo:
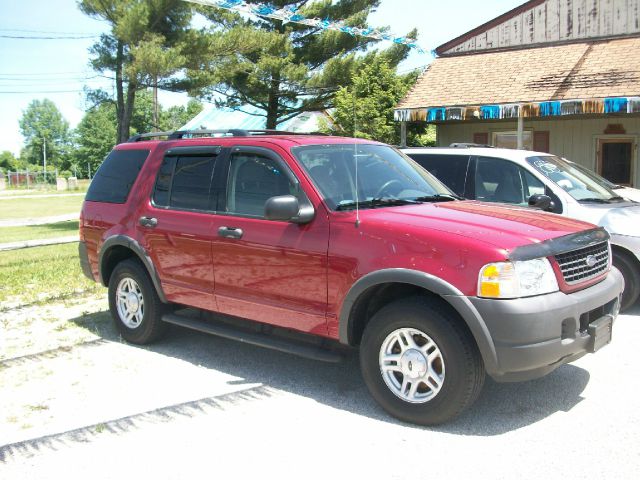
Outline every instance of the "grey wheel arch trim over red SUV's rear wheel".
<path fill-rule="evenodd" d="M 127 258 L 135 258 L 144 265 L 149 274 L 153 286 L 158 292 L 158 297 L 163 303 L 168 303 L 167 297 L 162 289 L 160 277 L 145 249 L 133 238 L 126 235 L 114 235 L 107 238 L 100 248 L 98 255 L 98 272 L 100 282 L 106 287 L 109 285 L 109 278 L 116 265 Z"/>

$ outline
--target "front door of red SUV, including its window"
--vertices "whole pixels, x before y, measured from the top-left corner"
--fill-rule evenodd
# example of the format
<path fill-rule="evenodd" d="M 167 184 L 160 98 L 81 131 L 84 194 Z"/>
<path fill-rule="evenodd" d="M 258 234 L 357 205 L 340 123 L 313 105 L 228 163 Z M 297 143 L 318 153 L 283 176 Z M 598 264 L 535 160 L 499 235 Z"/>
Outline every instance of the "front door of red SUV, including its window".
<path fill-rule="evenodd" d="M 226 161 L 223 207 L 213 241 L 218 310 L 305 332 L 326 334 L 329 224 L 318 214 L 297 225 L 264 218 L 270 197 L 295 195 L 299 183 L 273 151 L 234 148 Z"/>

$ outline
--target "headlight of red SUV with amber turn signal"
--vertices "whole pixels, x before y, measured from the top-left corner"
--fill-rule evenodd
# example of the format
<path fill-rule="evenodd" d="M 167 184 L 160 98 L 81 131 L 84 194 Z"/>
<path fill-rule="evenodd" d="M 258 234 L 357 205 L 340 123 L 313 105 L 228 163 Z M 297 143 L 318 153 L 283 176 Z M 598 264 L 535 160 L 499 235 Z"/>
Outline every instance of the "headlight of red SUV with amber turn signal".
<path fill-rule="evenodd" d="M 546 258 L 485 265 L 478 278 L 478 296 L 485 298 L 531 297 L 558 291 L 558 281 Z"/>

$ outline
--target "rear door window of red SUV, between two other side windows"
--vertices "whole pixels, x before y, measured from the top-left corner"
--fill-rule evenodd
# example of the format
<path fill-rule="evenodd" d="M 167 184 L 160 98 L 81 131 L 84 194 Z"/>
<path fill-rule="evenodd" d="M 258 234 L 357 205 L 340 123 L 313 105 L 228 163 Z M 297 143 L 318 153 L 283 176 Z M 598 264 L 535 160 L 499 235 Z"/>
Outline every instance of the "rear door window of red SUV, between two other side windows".
<path fill-rule="evenodd" d="M 215 157 L 167 156 L 163 159 L 153 203 L 180 210 L 213 210 L 211 179 Z"/>

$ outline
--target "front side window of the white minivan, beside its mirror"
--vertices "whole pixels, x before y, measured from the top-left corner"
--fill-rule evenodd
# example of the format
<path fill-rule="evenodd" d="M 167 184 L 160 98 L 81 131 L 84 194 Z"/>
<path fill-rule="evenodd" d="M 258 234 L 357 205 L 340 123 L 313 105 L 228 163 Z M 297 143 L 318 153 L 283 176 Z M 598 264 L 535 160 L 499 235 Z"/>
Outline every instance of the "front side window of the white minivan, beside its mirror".
<path fill-rule="evenodd" d="M 478 157 L 475 175 L 476 199 L 524 205 L 526 199 L 520 170 L 520 167 L 508 160 Z"/>

